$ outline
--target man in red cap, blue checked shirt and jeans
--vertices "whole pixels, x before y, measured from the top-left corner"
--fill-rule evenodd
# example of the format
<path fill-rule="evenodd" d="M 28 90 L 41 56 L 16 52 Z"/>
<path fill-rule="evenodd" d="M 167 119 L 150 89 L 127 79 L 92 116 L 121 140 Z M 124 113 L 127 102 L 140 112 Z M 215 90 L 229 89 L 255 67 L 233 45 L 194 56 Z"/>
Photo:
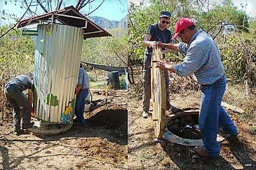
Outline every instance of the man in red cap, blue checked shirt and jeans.
<path fill-rule="evenodd" d="M 196 82 L 202 85 L 198 123 L 204 147 L 196 148 L 195 152 L 204 157 L 218 157 L 220 154 L 220 146 L 216 141 L 218 127 L 222 127 L 230 138 L 238 134 L 233 121 L 221 106 L 226 78 L 220 51 L 212 38 L 206 32 L 197 30 L 194 22 L 189 18 L 181 18 L 176 22 L 172 39 L 177 37 L 181 38 L 181 43 L 157 42 L 157 45 L 183 53 L 185 55 L 183 62 L 169 65 L 165 61 L 160 61 L 157 67 L 175 72 L 179 76 L 194 74 Z"/>

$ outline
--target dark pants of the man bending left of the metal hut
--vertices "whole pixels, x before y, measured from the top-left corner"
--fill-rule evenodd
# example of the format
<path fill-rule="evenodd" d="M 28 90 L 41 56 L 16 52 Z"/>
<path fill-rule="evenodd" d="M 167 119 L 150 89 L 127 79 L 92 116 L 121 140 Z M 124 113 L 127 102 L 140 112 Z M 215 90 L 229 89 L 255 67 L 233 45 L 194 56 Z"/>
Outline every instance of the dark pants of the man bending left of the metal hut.
<path fill-rule="evenodd" d="M 17 88 L 12 85 L 5 88 L 4 92 L 5 96 L 7 97 L 7 100 L 13 106 L 14 130 L 21 128 L 21 117 L 23 117 L 22 125 L 28 125 L 31 119 L 31 105 L 28 101 L 28 98 L 26 98 L 26 95 L 22 93 L 21 90 L 17 90 Z"/>

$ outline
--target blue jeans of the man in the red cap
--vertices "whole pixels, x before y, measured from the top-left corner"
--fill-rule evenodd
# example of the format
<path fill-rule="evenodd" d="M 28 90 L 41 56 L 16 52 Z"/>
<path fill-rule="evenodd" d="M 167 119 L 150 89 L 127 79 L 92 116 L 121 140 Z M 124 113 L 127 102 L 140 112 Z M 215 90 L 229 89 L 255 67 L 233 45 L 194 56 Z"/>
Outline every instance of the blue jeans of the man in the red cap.
<path fill-rule="evenodd" d="M 225 90 L 225 77 L 220 78 L 214 84 L 202 85 L 198 123 L 202 142 L 210 157 L 218 157 L 220 154 L 220 146 L 216 140 L 219 126 L 228 134 L 237 134 L 237 128 L 221 106 Z"/>

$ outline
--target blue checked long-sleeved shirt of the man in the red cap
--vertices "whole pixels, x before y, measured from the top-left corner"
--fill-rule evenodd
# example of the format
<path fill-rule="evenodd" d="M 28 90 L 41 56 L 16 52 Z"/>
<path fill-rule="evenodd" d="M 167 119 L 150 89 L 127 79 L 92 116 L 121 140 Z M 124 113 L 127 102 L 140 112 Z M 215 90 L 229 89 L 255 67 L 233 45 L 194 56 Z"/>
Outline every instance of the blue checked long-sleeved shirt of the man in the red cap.
<path fill-rule="evenodd" d="M 179 76 L 194 73 L 198 84 L 212 84 L 222 77 L 224 67 L 220 59 L 220 51 L 212 38 L 201 29 L 191 38 L 191 42 L 179 43 L 179 52 L 185 55 L 183 62 L 174 65 Z"/>

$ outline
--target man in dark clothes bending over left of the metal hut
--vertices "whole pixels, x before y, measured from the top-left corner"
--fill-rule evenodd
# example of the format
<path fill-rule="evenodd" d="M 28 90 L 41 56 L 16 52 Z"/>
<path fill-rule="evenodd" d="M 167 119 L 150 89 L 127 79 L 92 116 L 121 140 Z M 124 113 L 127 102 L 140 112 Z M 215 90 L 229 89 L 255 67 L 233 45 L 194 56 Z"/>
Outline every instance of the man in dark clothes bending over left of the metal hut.
<path fill-rule="evenodd" d="M 15 134 L 19 135 L 24 132 L 21 130 L 21 117 L 23 117 L 22 129 L 34 125 L 34 123 L 30 123 L 31 101 L 22 93 L 26 89 L 32 89 L 33 86 L 31 72 L 28 72 L 26 76 L 19 75 L 5 84 L 5 96 L 13 106 L 13 132 Z"/>

